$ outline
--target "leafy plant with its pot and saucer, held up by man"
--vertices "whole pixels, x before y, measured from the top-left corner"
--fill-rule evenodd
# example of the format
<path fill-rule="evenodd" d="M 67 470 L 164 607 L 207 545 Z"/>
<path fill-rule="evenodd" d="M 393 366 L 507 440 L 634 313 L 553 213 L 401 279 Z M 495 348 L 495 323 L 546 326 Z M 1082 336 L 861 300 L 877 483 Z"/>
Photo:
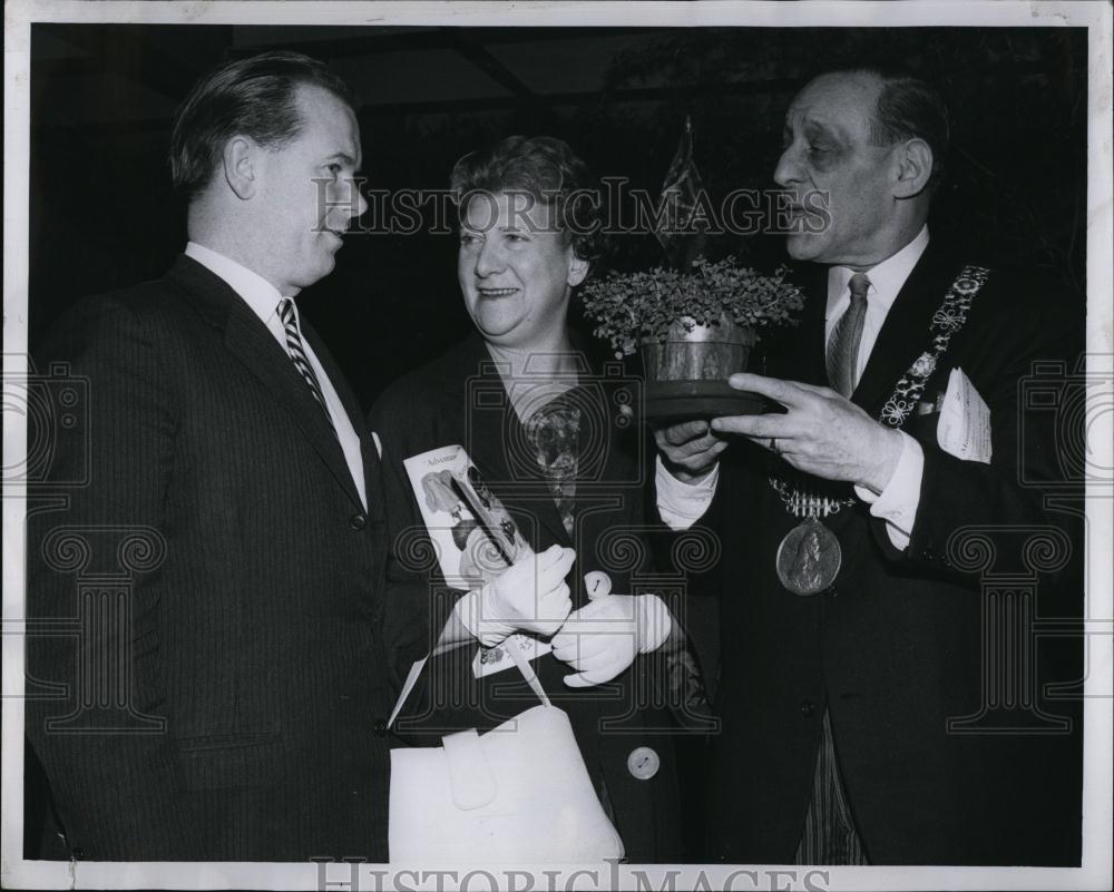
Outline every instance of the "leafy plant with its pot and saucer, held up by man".
<path fill-rule="evenodd" d="M 762 411 L 762 399 L 727 378 L 746 371 L 760 329 L 798 323 L 803 297 L 785 273 L 762 275 L 734 257 L 613 272 L 585 285 L 585 315 L 618 357 L 641 347 L 648 419 L 750 414 Z"/>

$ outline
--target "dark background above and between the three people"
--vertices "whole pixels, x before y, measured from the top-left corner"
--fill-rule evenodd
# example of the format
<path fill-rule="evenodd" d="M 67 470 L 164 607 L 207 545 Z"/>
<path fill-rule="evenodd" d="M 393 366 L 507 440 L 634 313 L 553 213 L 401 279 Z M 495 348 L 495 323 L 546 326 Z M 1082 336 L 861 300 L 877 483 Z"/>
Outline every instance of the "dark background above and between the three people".
<path fill-rule="evenodd" d="M 166 271 L 186 241 L 166 161 L 174 110 L 212 66 L 268 48 L 323 59 L 354 87 L 372 188 L 444 188 L 465 153 L 545 133 L 598 176 L 656 195 L 688 114 L 713 197 L 773 185 L 785 108 L 811 73 L 901 62 L 941 87 L 955 118 L 934 237 L 1085 286 L 1083 28 L 38 23 L 31 35 L 32 350 L 81 295 Z M 759 266 L 783 259 L 772 236 L 720 249 Z M 450 235 L 351 236 L 335 272 L 303 292 L 365 404 L 468 330 L 455 257 Z M 610 263 L 659 259 L 652 236 L 629 235 Z"/>

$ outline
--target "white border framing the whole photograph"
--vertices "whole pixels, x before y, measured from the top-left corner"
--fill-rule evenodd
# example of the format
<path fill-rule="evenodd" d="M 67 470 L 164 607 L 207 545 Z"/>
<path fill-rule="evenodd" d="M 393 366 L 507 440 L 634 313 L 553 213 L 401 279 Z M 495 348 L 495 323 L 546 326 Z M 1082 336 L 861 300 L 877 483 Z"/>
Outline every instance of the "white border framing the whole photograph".
<path fill-rule="evenodd" d="M 148 24 L 439 24 L 605 27 L 632 22 L 659 27 L 905 27 L 1039 26 L 1088 29 L 1087 161 L 1087 352 L 1096 371 L 1114 379 L 1112 335 L 1112 8 L 1108 2 L 902 3 L 824 0 L 782 2 L 120 2 L 118 0 L 12 0 L 4 6 L 4 235 L 3 235 L 3 468 L 20 467 L 27 454 L 26 416 L 10 410 L 10 381 L 28 369 L 30 30 L 32 22 L 128 22 Z M 1088 373 L 1092 370 L 1088 369 Z M 1104 405 L 1111 405 L 1104 401 Z M 1088 450 L 1095 467 L 1114 469 L 1112 419 L 1088 418 Z M 1088 487 L 1093 542 L 1114 532 L 1114 499 Z M 3 755 L 0 797 L 0 884 L 9 889 L 615 889 L 635 888 L 634 865 L 553 871 L 545 865 L 471 871 L 451 865 L 348 865 L 275 863 L 130 863 L 25 861 L 23 821 L 23 549 L 25 492 L 3 486 Z M 1114 705 L 1114 574 L 1106 549 L 1087 555 L 1085 634 L 1088 675 L 1084 723 L 1083 865 L 1072 869 L 1006 868 L 822 868 L 654 865 L 642 869 L 654 889 L 1110 889 L 1112 875 L 1112 705 Z M 414 870 L 417 868 L 417 870 Z M 671 871 L 678 871 L 673 874 Z M 515 873 L 515 871 L 520 871 Z M 750 871 L 751 873 L 749 873 Z M 423 875 L 424 874 L 424 875 Z M 480 876 L 479 874 L 483 874 Z M 752 875 L 753 874 L 753 875 Z M 488 879 L 491 878 L 491 879 Z M 524 884 L 532 878 L 532 884 Z M 547 879 L 548 878 L 548 879 Z M 811 878 L 811 879 L 810 879 Z M 786 885 L 785 883 L 790 883 Z M 492 883 L 495 883 L 492 885 Z M 803 885 L 802 885 L 803 883 Z M 643 886 L 645 888 L 645 886 Z"/>

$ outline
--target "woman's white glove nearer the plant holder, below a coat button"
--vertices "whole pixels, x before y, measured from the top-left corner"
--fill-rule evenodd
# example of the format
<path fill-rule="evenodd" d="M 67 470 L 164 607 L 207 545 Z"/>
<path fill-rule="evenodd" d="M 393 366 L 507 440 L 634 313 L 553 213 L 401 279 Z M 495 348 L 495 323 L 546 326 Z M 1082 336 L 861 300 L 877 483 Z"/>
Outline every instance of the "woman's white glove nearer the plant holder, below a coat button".
<path fill-rule="evenodd" d="M 553 639 L 554 656 L 576 669 L 565 676 L 569 687 L 610 682 L 673 630 L 670 609 L 656 595 L 610 595 L 610 580 L 595 576 L 584 578 L 590 602 L 569 614 Z"/>

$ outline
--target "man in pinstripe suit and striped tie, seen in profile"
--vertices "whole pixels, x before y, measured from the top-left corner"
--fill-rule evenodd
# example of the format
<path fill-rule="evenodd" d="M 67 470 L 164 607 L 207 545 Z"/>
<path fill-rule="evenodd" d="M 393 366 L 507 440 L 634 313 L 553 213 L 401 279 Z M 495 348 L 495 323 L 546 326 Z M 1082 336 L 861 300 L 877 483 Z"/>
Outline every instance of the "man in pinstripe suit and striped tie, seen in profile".
<path fill-rule="evenodd" d="M 88 381 L 86 451 L 29 519 L 27 733 L 71 856 L 387 860 L 380 467 L 292 298 L 365 209 L 345 85 L 271 52 L 179 108 L 189 243 L 38 353 Z M 72 633 L 77 629 L 77 634 Z M 42 688 L 39 688 L 40 690 Z"/>

